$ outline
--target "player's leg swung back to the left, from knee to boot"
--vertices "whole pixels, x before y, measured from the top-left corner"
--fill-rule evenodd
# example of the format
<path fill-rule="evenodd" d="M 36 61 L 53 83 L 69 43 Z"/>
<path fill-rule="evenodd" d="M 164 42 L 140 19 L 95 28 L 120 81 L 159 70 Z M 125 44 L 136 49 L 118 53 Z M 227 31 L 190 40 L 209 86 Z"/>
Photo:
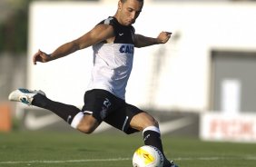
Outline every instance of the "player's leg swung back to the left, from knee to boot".
<path fill-rule="evenodd" d="M 74 105 L 54 102 L 48 99 L 43 91 L 17 89 L 10 93 L 9 100 L 50 110 L 83 133 L 92 133 L 99 125 L 92 115 L 84 116 L 84 113 Z"/>

